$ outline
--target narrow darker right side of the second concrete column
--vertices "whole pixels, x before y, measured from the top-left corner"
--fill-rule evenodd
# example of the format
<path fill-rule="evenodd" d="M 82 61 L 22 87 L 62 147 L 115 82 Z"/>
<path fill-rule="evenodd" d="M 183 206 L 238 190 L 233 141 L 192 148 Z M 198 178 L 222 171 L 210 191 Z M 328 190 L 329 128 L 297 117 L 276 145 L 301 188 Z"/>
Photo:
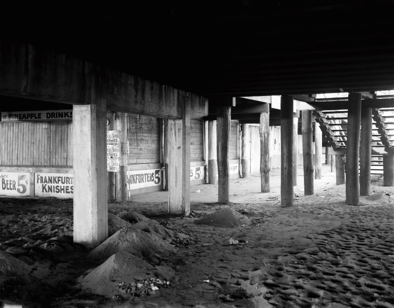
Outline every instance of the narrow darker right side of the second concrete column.
<path fill-rule="evenodd" d="M 190 106 L 189 96 L 183 97 L 182 105 L 182 212 L 190 214 Z"/>

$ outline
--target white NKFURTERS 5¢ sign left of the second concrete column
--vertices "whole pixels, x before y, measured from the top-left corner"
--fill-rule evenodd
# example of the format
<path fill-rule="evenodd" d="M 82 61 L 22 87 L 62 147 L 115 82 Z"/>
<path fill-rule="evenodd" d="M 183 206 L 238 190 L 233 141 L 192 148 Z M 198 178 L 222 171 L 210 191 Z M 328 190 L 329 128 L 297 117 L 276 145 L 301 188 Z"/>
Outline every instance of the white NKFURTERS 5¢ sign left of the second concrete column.
<path fill-rule="evenodd" d="M 127 172 L 127 190 L 163 185 L 162 169 L 133 170 Z"/>

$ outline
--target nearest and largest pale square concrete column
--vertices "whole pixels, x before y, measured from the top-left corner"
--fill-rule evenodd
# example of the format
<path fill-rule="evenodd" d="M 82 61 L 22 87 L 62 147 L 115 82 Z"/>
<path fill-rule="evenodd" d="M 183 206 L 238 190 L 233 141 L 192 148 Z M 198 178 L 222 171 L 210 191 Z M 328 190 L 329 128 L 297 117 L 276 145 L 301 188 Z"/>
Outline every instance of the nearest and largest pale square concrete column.
<path fill-rule="evenodd" d="M 106 101 L 95 82 L 93 78 L 95 104 L 72 109 L 74 242 L 85 246 L 99 245 L 108 237 Z"/>

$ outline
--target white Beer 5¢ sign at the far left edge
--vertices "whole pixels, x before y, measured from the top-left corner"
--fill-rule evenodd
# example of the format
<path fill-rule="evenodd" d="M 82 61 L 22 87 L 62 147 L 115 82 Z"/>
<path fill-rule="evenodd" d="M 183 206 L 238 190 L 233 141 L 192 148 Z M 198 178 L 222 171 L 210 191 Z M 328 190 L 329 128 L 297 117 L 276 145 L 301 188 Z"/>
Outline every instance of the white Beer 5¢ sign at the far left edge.
<path fill-rule="evenodd" d="M 0 195 L 30 195 L 30 173 L 0 172 L 0 182 Z"/>

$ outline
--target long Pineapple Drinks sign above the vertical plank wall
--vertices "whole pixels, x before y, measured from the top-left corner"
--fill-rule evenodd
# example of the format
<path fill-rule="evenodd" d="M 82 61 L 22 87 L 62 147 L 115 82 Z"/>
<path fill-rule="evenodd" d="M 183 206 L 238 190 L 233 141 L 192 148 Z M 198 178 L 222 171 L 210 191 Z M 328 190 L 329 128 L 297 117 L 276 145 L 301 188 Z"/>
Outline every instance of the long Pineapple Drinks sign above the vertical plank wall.
<path fill-rule="evenodd" d="M 1 113 L 2 122 L 60 120 L 72 120 L 72 110 L 5 111 Z"/>

